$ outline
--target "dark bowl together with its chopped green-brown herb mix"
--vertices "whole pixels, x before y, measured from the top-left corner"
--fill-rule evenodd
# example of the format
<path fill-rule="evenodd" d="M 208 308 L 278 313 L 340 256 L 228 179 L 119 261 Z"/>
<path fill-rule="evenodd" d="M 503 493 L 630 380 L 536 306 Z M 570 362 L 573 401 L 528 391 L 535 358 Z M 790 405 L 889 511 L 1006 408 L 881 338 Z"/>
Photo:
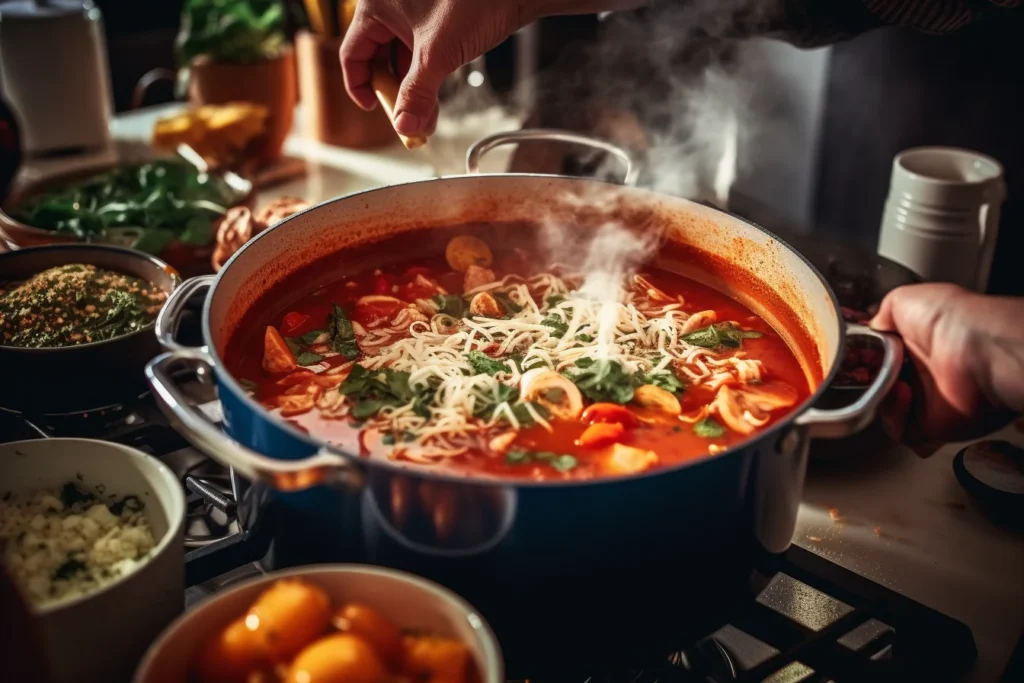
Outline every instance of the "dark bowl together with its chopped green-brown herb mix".
<path fill-rule="evenodd" d="M 52 245 L 0 254 L 0 409 L 95 411 L 137 397 L 161 352 L 160 309 L 177 271 L 142 252 Z"/>

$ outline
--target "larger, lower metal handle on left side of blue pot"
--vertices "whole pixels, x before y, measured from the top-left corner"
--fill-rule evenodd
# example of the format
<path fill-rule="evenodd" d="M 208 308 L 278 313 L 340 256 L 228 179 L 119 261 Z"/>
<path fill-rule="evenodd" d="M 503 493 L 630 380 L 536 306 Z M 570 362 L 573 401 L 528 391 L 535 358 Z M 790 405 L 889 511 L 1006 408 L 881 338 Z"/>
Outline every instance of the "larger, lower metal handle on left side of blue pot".
<path fill-rule="evenodd" d="M 278 460 L 255 453 L 231 439 L 189 404 L 171 376 L 174 366 L 212 373 L 213 359 L 201 349 L 181 348 L 158 355 L 145 367 L 145 378 L 160 410 L 171 426 L 200 451 L 250 481 L 266 483 L 276 490 L 295 492 L 335 483 L 356 488 L 362 486 L 362 471 L 337 454 L 321 451 L 302 460 Z"/>

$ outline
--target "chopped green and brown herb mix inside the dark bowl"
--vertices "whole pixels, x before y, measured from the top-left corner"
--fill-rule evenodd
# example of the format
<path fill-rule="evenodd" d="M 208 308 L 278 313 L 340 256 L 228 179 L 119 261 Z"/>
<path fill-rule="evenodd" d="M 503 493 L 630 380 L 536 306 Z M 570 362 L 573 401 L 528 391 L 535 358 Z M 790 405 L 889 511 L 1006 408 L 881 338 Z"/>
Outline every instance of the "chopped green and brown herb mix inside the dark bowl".
<path fill-rule="evenodd" d="M 132 334 L 156 319 L 166 299 L 153 283 L 82 263 L 0 281 L 0 346 L 54 348 Z"/>

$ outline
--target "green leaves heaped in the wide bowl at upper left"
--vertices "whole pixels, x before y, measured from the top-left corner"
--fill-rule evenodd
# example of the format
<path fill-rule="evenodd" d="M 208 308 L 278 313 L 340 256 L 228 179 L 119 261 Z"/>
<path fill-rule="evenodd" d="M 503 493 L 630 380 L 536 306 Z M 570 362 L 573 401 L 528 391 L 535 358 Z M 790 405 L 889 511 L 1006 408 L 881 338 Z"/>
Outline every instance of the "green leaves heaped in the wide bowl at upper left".
<path fill-rule="evenodd" d="M 213 243 L 213 223 L 241 199 L 221 178 L 179 159 L 119 166 L 31 198 L 17 220 L 77 238 L 159 253 L 169 241 Z"/>

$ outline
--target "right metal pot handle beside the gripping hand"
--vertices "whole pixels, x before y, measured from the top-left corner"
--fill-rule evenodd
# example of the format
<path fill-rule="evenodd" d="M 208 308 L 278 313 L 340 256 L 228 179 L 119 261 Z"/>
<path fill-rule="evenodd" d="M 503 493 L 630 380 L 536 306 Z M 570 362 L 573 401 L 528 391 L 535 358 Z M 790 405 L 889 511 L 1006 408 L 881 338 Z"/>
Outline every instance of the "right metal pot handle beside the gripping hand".
<path fill-rule="evenodd" d="M 797 418 L 796 424 L 807 427 L 812 438 L 844 438 L 869 425 L 879 405 L 899 379 L 903 367 L 903 340 L 894 334 L 878 332 L 863 325 L 847 325 L 847 336 L 873 337 L 882 342 L 882 368 L 864 394 L 853 403 L 833 411 L 812 408 Z"/>

